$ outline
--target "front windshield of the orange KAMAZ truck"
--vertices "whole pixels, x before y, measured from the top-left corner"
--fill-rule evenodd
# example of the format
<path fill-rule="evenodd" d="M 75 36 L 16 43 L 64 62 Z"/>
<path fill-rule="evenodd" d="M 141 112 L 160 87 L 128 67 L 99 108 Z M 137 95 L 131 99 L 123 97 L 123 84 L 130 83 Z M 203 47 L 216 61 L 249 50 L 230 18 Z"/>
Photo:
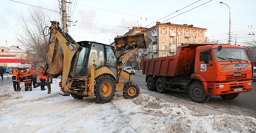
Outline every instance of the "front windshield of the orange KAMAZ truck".
<path fill-rule="evenodd" d="M 217 62 L 223 61 L 249 61 L 245 50 L 242 48 L 222 48 L 220 51 L 213 49 L 214 56 Z"/>

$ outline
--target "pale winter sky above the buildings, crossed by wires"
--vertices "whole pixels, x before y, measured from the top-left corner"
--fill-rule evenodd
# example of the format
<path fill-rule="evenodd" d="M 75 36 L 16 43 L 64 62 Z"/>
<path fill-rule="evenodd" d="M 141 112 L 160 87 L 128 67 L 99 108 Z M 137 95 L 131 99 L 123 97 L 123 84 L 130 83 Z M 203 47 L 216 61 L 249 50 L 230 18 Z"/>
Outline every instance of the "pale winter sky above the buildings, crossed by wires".
<path fill-rule="evenodd" d="M 20 16 L 28 16 L 28 8 L 32 8 L 29 5 L 49 9 L 45 9 L 45 11 L 51 15 L 52 20 L 60 21 L 60 1 L 2 0 L 0 5 L 2 13 L 0 16 L 0 46 L 19 45 L 16 42 L 14 30 L 20 28 Z M 248 35 L 252 32 L 256 34 L 255 0 L 66 1 L 72 2 L 67 7 L 69 9 L 67 15 L 71 16 L 71 21 L 77 21 L 70 24 L 71 27 L 68 28 L 69 34 L 76 41 L 87 40 L 109 44 L 114 41 L 115 36 L 125 34 L 133 26 L 150 28 L 156 24 L 155 21 L 160 21 L 206 28 L 206 36 L 210 41 L 218 40 L 219 43 L 227 43 L 229 33 L 228 6 L 231 12 L 231 41 L 233 41 L 231 44 L 235 44 L 236 41 L 237 44 L 244 45 L 245 41 L 251 41 L 252 38 L 256 39 L 256 35 Z M 220 1 L 228 6 L 221 4 Z M 167 17 L 164 18 L 165 16 Z"/>

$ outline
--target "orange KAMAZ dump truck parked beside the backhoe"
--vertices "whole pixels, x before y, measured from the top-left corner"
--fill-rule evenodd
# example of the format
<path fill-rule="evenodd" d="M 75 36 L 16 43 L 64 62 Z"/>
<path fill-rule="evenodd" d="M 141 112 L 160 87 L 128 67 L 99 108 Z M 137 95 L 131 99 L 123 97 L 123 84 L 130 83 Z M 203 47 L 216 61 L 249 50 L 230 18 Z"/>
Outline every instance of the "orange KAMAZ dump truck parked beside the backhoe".
<path fill-rule="evenodd" d="M 191 100 L 234 99 L 252 91 L 253 62 L 242 46 L 182 44 L 175 56 L 142 59 L 148 90 L 188 92 Z"/>

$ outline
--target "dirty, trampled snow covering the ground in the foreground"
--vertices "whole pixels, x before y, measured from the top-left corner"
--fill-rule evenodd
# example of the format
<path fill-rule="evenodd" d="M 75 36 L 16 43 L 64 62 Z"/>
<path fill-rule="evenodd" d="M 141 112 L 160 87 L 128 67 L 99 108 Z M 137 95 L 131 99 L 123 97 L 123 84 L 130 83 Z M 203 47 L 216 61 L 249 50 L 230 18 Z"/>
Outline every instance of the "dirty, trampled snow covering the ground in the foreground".
<path fill-rule="evenodd" d="M 93 99 L 61 96 L 57 80 L 52 84 L 51 94 L 39 87 L 14 92 L 12 84 L 2 85 L 0 132 L 256 133 L 256 119 L 235 115 L 239 109 L 219 110 L 164 94 L 157 98 L 153 96 L 157 92 L 146 94 L 146 86 L 140 87 L 142 93 L 135 99 L 125 99 L 122 93 L 116 93 L 112 102 L 98 104 Z"/>

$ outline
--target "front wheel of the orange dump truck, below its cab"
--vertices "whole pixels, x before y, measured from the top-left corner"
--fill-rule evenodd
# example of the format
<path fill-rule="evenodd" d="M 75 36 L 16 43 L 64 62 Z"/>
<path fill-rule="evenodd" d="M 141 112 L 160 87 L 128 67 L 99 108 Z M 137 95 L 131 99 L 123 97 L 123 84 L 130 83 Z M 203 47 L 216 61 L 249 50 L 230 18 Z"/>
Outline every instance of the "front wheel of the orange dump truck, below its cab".
<path fill-rule="evenodd" d="M 206 96 L 206 91 L 204 90 L 203 84 L 200 82 L 195 82 L 190 85 L 188 96 L 197 103 L 205 103 L 210 99 L 210 96 Z"/>

